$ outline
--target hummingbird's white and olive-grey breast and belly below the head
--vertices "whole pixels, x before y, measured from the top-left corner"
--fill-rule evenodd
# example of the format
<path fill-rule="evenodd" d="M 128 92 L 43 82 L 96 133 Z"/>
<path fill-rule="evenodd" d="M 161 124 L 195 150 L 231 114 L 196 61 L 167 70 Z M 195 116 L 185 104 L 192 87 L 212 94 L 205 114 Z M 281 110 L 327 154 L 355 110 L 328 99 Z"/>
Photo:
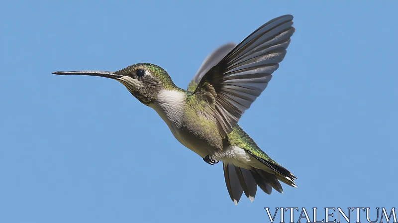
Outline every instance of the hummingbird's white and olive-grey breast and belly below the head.
<path fill-rule="evenodd" d="M 209 106 L 197 96 L 179 90 L 160 91 L 156 102 L 150 105 L 174 137 L 202 158 L 222 151 L 222 138 Z"/>

